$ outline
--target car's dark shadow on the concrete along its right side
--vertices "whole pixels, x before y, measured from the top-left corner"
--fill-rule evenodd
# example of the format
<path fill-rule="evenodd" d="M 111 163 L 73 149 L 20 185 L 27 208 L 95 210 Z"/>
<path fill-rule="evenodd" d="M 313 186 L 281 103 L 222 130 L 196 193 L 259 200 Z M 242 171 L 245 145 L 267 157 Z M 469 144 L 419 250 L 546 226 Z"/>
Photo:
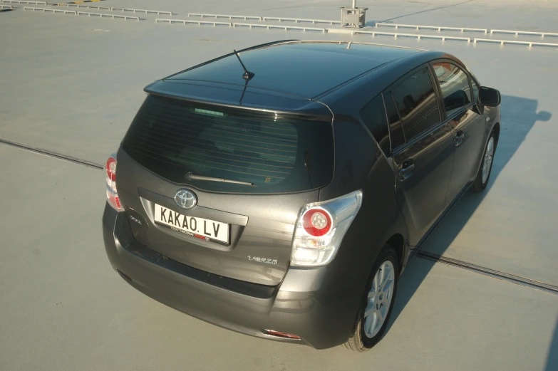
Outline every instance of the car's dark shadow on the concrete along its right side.
<path fill-rule="evenodd" d="M 451 207 L 448 213 L 445 214 L 438 226 L 430 232 L 421 246 L 418 246 L 418 250 L 420 250 L 422 246 L 428 244 L 428 246 L 434 246 L 434 251 L 429 252 L 443 255 L 448 249 L 455 237 L 458 236 L 465 224 L 467 224 L 467 221 L 469 221 L 477 207 L 479 207 L 482 200 L 490 192 L 490 187 L 492 187 L 492 184 L 494 184 L 500 172 L 502 172 L 502 169 L 506 167 L 507 163 L 515 155 L 517 149 L 522 145 L 522 142 L 524 142 L 532 127 L 539 121 L 550 120 L 551 113 L 545 111 L 537 112 L 537 105 L 537 100 L 502 95 L 502 103 L 500 106 L 502 112 L 500 138 L 497 144 L 497 150 L 492 164 L 492 173 L 490 174 L 490 181 L 487 188 L 484 192 L 480 193 L 465 192 L 462 197 L 453 204 L 453 207 Z M 440 228 L 440 224 L 443 224 L 443 227 Z M 416 259 L 418 259 L 418 257 L 415 254 L 409 264 L 413 264 L 413 260 Z M 408 267 L 407 271 L 409 271 L 410 274 L 405 274 L 407 271 L 403 273 L 398 286 L 396 303 L 393 307 L 393 313 L 391 313 L 390 323 L 388 323 L 388 330 L 405 309 L 405 306 L 413 297 L 424 278 L 428 275 L 431 266 L 432 264 L 428 264 L 420 269 L 409 269 L 411 267 Z M 553 370 L 558 370 L 558 368 Z"/>

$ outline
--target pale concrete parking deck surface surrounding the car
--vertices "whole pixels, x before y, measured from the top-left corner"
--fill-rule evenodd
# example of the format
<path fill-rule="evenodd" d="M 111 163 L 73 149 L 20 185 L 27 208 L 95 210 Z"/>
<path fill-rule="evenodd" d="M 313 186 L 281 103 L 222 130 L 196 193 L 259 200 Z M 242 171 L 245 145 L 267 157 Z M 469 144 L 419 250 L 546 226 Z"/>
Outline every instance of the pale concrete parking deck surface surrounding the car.
<path fill-rule="evenodd" d="M 177 19 L 189 11 L 337 19 L 347 5 L 91 4 L 174 11 Z M 358 5 L 371 9 L 371 21 L 558 32 L 556 1 Z M 156 24 L 155 15 L 118 21 L 22 7 L 0 14 L 0 137 L 96 163 L 118 147 L 145 85 L 231 48 L 350 38 L 455 54 L 483 85 L 501 90 L 502 134 L 487 192 L 465 194 L 422 248 L 558 286 L 556 48 L 229 30 Z M 0 159 L 0 370 L 558 370 L 558 296 L 420 258 L 402 277 L 386 337 L 365 354 L 208 325 L 134 291 L 112 271 L 100 234 L 102 172 L 1 144 Z"/>

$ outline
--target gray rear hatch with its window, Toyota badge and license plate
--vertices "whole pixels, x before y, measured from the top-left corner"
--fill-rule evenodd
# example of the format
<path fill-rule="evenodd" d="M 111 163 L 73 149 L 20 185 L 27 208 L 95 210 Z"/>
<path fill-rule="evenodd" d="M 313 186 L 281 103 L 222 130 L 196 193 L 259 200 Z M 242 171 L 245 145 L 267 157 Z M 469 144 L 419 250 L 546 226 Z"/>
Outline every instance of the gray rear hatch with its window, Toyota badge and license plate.
<path fill-rule="evenodd" d="M 221 90 L 205 89 L 213 98 Z M 118 152 L 118 194 L 135 239 L 202 271 L 281 282 L 299 211 L 331 181 L 334 140 L 324 106 L 287 98 L 318 110 L 305 115 L 266 99 L 264 112 L 148 95 Z"/>

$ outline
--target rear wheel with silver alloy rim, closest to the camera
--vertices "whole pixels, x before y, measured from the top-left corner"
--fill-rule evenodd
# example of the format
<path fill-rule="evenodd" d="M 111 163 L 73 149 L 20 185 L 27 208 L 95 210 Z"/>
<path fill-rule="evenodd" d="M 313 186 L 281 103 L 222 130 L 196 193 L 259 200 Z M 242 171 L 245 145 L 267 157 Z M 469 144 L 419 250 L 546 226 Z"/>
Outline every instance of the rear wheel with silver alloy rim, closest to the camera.
<path fill-rule="evenodd" d="M 391 283 L 383 280 L 388 275 Z M 386 332 L 393 305 L 395 304 L 399 281 L 399 260 L 393 247 L 386 245 L 376 259 L 371 276 L 366 283 L 363 299 L 356 315 L 351 337 L 345 343 L 346 348 L 356 352 L 370 350 Z M 384 284 L 380 290 L 377 286 Z M 387 297 L 389 295 L 389 297 Z M 373 298 L 371 298 L 373 296 Z M 386 302 L 388 306 L 386 307 Z M 374 309 L 376 308 L 376 309 Z M 382 310 L 383 308 L 383 310 Z M 379 313 L 379 316 L 378 316 Z M 374 317 L 376 315 L 376 318 Z M 381 324 L 377 323 L 383 318 Z"/>

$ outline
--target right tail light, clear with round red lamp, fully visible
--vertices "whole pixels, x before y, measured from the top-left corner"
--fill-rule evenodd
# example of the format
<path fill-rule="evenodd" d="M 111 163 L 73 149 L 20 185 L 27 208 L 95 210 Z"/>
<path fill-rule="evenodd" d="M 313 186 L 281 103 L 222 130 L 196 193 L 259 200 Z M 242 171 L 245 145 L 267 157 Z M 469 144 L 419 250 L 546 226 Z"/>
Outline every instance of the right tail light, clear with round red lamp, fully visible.
<path fill-rule="evenodd" d="M 325 266 L 332 261 L 361 204 L 361 190 L 306 204 L 296 220 L 291 266 Z"/>

